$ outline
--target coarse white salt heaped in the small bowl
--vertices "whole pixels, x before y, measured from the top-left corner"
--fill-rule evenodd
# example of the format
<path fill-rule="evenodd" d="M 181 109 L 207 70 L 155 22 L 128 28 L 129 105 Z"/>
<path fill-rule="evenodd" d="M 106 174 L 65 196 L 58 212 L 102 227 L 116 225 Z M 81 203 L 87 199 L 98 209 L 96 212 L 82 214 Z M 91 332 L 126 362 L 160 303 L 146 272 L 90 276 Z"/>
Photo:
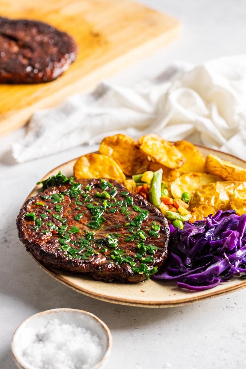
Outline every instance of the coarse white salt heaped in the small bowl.
<path fill-rule="evenodd" d="M 97 335 L 76 324 L 48 321 L 44 328 L 28 328 L 22 358 L 37 369 L 90 369 L 101 358 Z"/>

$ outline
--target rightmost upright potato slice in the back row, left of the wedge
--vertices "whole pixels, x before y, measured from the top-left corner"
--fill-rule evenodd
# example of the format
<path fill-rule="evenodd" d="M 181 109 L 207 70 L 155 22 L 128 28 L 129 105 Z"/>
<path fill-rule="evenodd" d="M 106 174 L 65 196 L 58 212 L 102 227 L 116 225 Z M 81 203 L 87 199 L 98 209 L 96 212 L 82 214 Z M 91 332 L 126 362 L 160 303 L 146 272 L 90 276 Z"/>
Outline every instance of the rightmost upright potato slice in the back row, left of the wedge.
<path fill-rule="evenodd" d="M 189 172 L 205 172 L 205 158 L 202 153 L 188 141 L 177 141 L 174 146 L 184 155 L 186 162 L 179 168 L 181 174 Z"/>

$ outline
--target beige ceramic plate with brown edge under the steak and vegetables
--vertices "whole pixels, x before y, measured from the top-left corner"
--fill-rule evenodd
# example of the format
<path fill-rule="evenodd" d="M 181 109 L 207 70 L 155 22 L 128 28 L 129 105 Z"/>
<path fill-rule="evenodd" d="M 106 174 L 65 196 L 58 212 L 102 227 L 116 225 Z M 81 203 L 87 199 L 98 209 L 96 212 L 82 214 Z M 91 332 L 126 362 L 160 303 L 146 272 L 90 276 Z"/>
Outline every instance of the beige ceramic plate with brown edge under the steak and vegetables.
<path fill-rule="evenodd" d="M 221 159 L 231 161 L 233 164 L 246 168 L 246 162 L 236 158 L 235 156 L 225 154 L 224 152 L 197 146 L 202 154 L 215 154 Z M 51 175 L 55 175 L 59 170 L 67 177 L 73 176 L 73 165 L 76 159 L 59 165 L 57 168 L 49 172 L 43 179 Z M 40 186 L 36 186 L 28 196 L 35 196 Z M 31 254 L 30 254 L 31 255 Z M 32 256 L 32 258 L 34 258 Z M 221 283 L 219 286 L 201 292 L 190 292 L 177 288 L 176 282 L 164 282 L 157 280 L 148 280 L 141 283 L 105 283 L 92 280 L 87 276 L 66 273 L 60 270 L 49 268 L 39 263 L 35 258 L 35 262 L 50 276 L 74 289 L 77 292 L 98 300 L 103 300 L 115 304 L 142 306 L 142 307 L 169 307 L 180 306 L 210 299 L 212 297 L 221 296 L 246 287 L 246 280 L 233 278 L 232 280 Z"/>

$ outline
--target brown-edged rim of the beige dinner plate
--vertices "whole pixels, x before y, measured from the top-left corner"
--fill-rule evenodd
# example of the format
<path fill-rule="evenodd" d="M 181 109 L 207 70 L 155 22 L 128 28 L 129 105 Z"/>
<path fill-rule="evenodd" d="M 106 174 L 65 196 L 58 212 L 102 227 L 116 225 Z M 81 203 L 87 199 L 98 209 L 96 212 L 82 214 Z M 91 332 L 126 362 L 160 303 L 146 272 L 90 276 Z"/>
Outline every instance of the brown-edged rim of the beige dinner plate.
<path fill-rule="evenodd" d="M 244 164 L 244 166 L 246 167 L 246 161 L 239 159 L 237 156 L 235 155 L 231 155 L 219 150 L 215 150 L 215 149 L 211 149 L 208 148 L 207 146 L 204 145 L 195 145 L 196 147 L 198 147 L 201 151 L 209 151 L 214 153 L 215 155 L 217 154 L 218 156 L 223 156 L 223 159 L 225 160 L 231 160 L 232 162 L 236 162 L 236 161 L 240 161 L 241 163 Z M 67 161 L 59 166 L 57 166 L 56 168 L 52 169 L 49 173 L 47 173 L 43 178 L 46 179 L 47 177 L 49 177 L 50 175 L 52 175 L 54 172 L 56 172 L 57 170 L 62 170 L 63 167 L 69 165 L 73 162 L 75 162 L 77 158 L 72 159 L 70 161 Z M 38 189 L 40 188 L 40 186 L 35 186 L 34 189 L 31 191 L 31 193 L 28 195 L 27 199 L 29 199 L 31 196 L 34 196 Z M 30 253 L 29 253 L 30 254 Z M 127 305 L 127 306 L 136 306 L 136 307 L 174 307 L 174 306 L 183 306 L 183 305 L 189 305 L 192 304 L 196 301 L 202 301 L 202 300 L 207 300 L 207 299 L 211 299 L 213 297 L 218 297 L 218 296 L 223 296 L 225 294 L 231 293 L 231 292 L 235 292 L 237 290 L 240 290 L 244 287 L 246 287 L 246 280 L 240 280 L 238 281 L 236 284 L 228 284 L 228 286 L 226 286 L 226 284 L 223 284 L 222 289 L 217 289 L 217 287 L 215 287 L 214 289 L 211 290 L 207 290 L 207 292 L 205 291 L 205 294 L 202 294 L 201 292 L 193 292 L 193 293 L 188 293 L 189 296 L 187 296 L 186 291 L 182 290 L 182 289 L 177 289 L 176 292 L 177 294 L 180 296 L 181 294 L 183 294 L 183 298 L 179 298 L 176 299 L 174 297 L 173 300 L 166 300 L 164 296 L 160 296 L 158 297 L 156 300 L 142 300 L 141 299 L 129 299 L 123 296 L 112 296 L 110 294 L 110 285 L 111 283 L 108 283 L 109 286 L 109 292 L 108 293 L 99 293 L 99 292 L 95 292 L 93 291 L 93 289 L 91 289 L 90 287 L 81 287 L 79 286 L 79 284 L 74 283 L 71 280 L 72 276 L 75 276 L 72 273 L 64 273 L 61 272 L 58 269 L 53 269 L 53 268 L 49 268 L 48 266 L 43 265 L 42 263 L 40 263 L 33 255 L 30 254 L 30 256 L 32 257 L 32 259 L 34 259 L 34 261 L 38 264 L 39 267 L 41 267 L 46 273 L 48 273 L 48 275 L 50 275 L 51 277 L 53 277 L 55 280 L 57 280 L 58 282 L 64 284 L 65 286 L 81 293 L 84 294 L 86 296 L 92 297 L 94 299 L 97 300 L 101 300 L 101 301 L 106 301 L 109 303 L 115 303 L 115 304 L 121 304 L 121 305 Z M 78 276 L 78 275 L 76 275 Z M 84 276 L 80 276 L 80 278 L 85 278 Z M 235 279 L 234 279 L 235 281 Z M 176 286 L 176 283 L 172 283 L 172 282 L 160 282 L 160 280 L 153 281 L 151 280 L 151 283 L 167 283 L 166 287 L 167 289 L 170 287 L 170 290 L 173 290 L 173 287 Z M 95 283 L 104 283 L 104 282 L 96 282 Z M 147 283 L 147 282 L 142 282 L 142 283 Z M 142 285 L 141 283 L 141 287 L 144 287 L 144 285 Z M 227 282 L 228 283 L 228 282 Z M 138 283 L 139 285 L 140 283 Z M 119 283 L 119 286 L 121 284 Z M 127 284 L 129 286 L 129 288 L 131 288 L 132 284 Z M 136 284 L 134 284 L 136 286 Z M 221 284 L 222 285 L 222 284 Z M 176 295 L 176 294 L 174 294 Z"/>

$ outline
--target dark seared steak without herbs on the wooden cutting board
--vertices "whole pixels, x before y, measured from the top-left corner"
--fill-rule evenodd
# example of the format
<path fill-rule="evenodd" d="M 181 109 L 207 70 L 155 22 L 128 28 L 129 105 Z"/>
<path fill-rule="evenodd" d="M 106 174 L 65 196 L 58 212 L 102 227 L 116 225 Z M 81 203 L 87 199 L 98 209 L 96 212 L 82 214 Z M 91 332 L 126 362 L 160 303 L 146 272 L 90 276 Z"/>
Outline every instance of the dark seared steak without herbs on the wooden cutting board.
<path fill-rule="evenodd" d="M 75 61 L 72 37 L 49 24 L 0 17 L 0 83 L 41 83 Z"/>

